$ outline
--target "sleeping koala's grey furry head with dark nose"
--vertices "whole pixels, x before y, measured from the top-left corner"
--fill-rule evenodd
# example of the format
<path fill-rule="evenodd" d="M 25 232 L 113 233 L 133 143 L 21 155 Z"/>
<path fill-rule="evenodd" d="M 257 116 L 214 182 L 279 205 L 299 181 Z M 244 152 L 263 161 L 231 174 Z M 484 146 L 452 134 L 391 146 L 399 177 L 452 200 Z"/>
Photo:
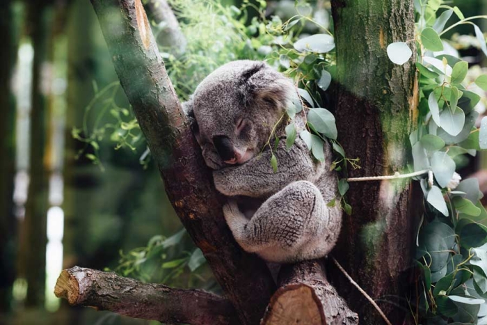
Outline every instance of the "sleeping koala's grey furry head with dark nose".
<path fill-rule="evenodd" d="M 295 94 L 290 79 L 259 61 L 230 62 L 209 74 L 184 103 L 207 166 L 244 164 L 258 154 Z"/>

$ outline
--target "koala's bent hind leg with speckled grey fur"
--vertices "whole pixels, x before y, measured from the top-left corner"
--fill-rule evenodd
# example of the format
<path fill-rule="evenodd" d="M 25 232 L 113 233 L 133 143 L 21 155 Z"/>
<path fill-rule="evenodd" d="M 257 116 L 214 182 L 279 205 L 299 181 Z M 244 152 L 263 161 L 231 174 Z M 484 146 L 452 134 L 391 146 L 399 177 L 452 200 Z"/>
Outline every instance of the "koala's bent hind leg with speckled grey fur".
<path fill-rule="evenodd" d="M 234 238 L 245 251 L 269 262 L 296 262 L 323 257 L 340 232 L 340 207 L 327 207 L 319 189 L 292 182 L 271 196 L 248 220 L 237 203 L 223 207 Z"/>

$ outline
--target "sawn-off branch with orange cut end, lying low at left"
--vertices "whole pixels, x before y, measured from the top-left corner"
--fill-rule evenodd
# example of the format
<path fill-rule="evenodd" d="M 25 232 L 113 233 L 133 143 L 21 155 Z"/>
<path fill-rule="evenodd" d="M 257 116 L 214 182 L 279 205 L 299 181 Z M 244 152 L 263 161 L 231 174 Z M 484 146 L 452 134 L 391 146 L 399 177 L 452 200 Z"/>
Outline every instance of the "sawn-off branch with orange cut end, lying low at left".
<path fill-rule="evenodd" d="M 202 290 L 141 283 L 111 272 L 73 267 L 61 272 L 54 293 L 72 306 L 90 306 L 165 324 L 238 324 L 230 301 Z"/>

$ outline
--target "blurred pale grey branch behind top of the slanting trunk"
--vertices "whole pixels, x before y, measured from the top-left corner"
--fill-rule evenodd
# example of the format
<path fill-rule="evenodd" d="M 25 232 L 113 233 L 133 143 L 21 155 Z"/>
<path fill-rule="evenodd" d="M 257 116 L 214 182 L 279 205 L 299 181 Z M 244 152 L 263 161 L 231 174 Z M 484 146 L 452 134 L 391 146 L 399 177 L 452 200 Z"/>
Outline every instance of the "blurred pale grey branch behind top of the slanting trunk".
<path fill-rule="evenodd" d="M 175 56 L 183 54 L 186 50 L 186 37 L 181 31 L 168 1 L 149 0 L 145 3 L 145 8 L 147 8 L 150 19 L 153 19 L 156 24 L 164 24 L 163 29 L 156 36 L 158 44 L 166 47 Z"/>

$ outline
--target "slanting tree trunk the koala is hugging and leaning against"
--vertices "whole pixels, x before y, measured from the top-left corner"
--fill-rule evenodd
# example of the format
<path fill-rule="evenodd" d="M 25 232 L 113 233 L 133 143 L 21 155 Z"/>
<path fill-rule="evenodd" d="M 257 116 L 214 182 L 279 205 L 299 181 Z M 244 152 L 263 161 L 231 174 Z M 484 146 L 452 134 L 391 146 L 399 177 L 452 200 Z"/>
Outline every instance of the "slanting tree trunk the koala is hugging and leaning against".
<path fill-rule="evenodd" d="M 266 265 L 234 241 L 159 56 L 140 0 L 92 0 L 115 70 L 175 211 L 202 249 L 242 324 L 258 324 L 275 285 Z"/>

